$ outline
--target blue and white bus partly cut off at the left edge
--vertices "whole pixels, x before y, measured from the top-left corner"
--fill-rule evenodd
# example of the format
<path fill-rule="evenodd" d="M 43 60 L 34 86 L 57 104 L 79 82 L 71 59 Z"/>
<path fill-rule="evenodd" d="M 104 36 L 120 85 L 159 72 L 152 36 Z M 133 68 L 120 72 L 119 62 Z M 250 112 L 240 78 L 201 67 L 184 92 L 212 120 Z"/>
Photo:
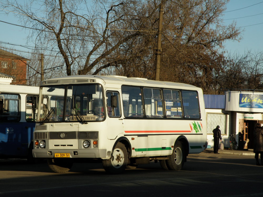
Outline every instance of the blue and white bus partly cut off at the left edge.
<path fill-rule="evenodd" d="M 32 159 L 39 87 L 0 84 L 0 157 Z"/>

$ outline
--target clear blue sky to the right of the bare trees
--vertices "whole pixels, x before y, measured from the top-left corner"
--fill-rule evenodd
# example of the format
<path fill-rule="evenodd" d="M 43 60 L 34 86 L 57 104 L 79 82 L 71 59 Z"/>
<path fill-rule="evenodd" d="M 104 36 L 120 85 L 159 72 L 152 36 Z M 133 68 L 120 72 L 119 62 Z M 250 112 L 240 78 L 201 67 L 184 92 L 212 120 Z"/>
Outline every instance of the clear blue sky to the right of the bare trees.
<path fill-rule="evenodd" d="M 242 32 L 243 38 L 242 40 L 240 40 L 240 42 L 237 41 L 225 42 L 224 45 L 226 50 L 230 51 L 231 53 L 240 53 L 240 54 L 244 54 L 244 52 L 247 50 L 251 50 L 251 52 L 257 52 L 263 50 L 263 40 L 262 40 L 263 1 L 262 0 L 261 1 L 230 0 L 230 2 L 227 4 L 227 10 L 224 13 L 224 19 L 226 24 L 235 20 L 237 24 L 236 26 L 243 27 L 242 29 L 244 29 L 244 31 Z M 228 19 L 232 19 L 232 20 L 228 20 Z"/>

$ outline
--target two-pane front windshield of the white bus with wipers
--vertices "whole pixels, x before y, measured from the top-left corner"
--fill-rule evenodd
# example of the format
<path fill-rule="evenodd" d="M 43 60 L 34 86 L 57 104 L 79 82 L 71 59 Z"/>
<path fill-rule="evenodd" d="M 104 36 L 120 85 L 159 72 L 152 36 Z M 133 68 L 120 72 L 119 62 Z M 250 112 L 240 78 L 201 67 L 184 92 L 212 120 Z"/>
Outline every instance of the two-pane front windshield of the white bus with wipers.
<path fill-rule="evenodd" d="M 40 88 L 38 122 L 83 122 L 104 119 L 102 87 L 91 85 Z"/>

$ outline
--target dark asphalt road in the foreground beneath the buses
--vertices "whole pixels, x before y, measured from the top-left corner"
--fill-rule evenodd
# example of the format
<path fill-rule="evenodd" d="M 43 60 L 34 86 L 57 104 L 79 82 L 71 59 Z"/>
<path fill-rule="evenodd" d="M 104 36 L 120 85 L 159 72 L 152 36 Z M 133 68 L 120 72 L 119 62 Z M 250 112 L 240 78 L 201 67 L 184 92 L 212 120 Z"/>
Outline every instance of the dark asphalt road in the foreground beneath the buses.
<path fill-rule="evenodd" d="M 100 163 L 53 173 L 46 163 L 0 159 L 0 196 L 263 196 L 263 166 L 254 156 L 191 154 L 181 171 L 159 162 L 109 175 Z"/>

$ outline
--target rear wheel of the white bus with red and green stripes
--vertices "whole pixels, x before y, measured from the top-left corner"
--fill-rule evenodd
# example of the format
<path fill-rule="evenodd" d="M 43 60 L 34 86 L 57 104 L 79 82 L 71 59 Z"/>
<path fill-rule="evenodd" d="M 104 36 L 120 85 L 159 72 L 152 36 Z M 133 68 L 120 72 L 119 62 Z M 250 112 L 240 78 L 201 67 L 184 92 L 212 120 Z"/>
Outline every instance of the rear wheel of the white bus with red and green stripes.
<path fill-rule="evenodd" d="M 181 170 L 183 168 L 185 149 L 182 142 L 176 142 L 173 153 L 168 158 L 166 164 L 169 170 Z"/>

